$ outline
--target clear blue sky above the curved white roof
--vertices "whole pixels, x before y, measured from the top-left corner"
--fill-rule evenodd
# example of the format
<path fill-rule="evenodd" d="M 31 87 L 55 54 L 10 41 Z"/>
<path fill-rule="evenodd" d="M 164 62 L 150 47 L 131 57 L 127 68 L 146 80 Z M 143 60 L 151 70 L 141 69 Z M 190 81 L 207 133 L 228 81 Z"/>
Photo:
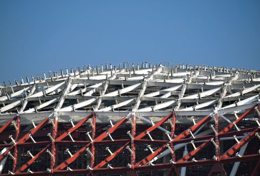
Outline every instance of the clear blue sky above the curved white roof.
<path fill-rule="evenodd" d="M 0 1 L 0 83 L 130 61 L 260 69 L 260 1 Z"/>

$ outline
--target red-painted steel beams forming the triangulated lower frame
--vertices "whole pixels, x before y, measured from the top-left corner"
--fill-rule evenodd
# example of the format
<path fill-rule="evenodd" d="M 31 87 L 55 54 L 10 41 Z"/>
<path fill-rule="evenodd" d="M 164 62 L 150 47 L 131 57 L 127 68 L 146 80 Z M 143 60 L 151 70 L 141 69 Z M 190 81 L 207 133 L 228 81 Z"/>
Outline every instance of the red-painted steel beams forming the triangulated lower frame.
<path fill-rule="evenodd" d="M 260 106 L 256 105 L 257 108 L 260 110 Z M 241 120 L 243 120 L 249 113 L 251 113 L 254 110 L 254 107 L 248 109 L 245 113 L 243 113 L 238 119 L 234 121 L 234 124 L 238 124 Z M 1 147 L 8 146 L 10 147 L 7 151 L 5 151 L 2 155 L 0 155 L 0 161 L 2 161 L 5 157 L 8 156 L 9 151 L 14 151 L 14 163 L 13 163 L 13 172 L 16 175 L 27 175 L 28 173 L 25 172 L 25 170 L 30 167 L 30 165 L 39 158 L 44 152 L 46 152 L 47 149 L 49 149 L 52 153 L 51 157 L 51 165 L 50 165 L 50 172 L 47 171 L 34 171 L 32 174 L 38 174 L 38 175 L 48 175 L 48 174 L 80 174 L 80 173 L 102 173 L 102 172 L 128 172 L 129 170 L 134 171 L 141 171 L 141 170 L 152 170 L 152 169 L 169 169 L 168 175 L 172 175 L 173 171 L 180 175 L 179 169 L 181 167 L 188 167 L 188 166 L 195 166 L 195 165 L 213 165 L 211 172 L 209 175 L 215 173 L 215 169 L 217 168 L 218 171 L 225 175 L 225 171 L 223 168 L 223 163 L 229 163 L 229 162 L 237 162 L 237 161 L 248 161 L 248 160 L 258 160 L 257 165 L 252 171 L 252 175 L 256 175 L 258 168 L 260 167 L 260 154 L 250 154 L 250 155 L 243 155 L 241 157 L 233 156 L 234 153 L 240 149 L 244 144 L 249 142 L 251 139 L 255 137 L 255 133 L 260 131 L 260 128 L 256 126 L 255 128 L 248 128 L 248 129 L 242 129 L 240 131 L 230 131 L 234 127 L 234 124 L 231 123 L 225 128 L 223 128 L 221 131 L 219 131 L 219 117 L 217 114 L 214 114 L 215 119 L 215 125 L 214 128 L 217 132 L 215 135 L 205 135 L 196 137 L 194 139 L 191 138 L 191 134 L 189 130 L 193 133 L 195 132 L 199 127 L 202 125 L 208 123 L 210 120 L 212 120 L 212 115 L 208 115 L 201 119 L 199 122 L 197 122 L 195 125 L 192 125 L 189 129 L 186 129 L 176 137 L 174 137 L 175 130 L 176 130 L 176 116 L 175 113 L 172 112 L 168 116 L 162 118 L 159 122 L 154 124 L 153 126 L 149 127 L 148 129 L 142 131 L 140 134 L 137 135 L 137 127 L 136 127 L 136 116 L 134 114 L 128 115 L 118 122 L 116 122 L 111 128 L 105 130 L 100 135 L 96 135 L 96 117 L 94 113 L 89 114 L 87 117 L 82 119 L 80 122 L 78 122 L 74 127 L 69 128 L 66 132 L 62 133 L 58 136 L 58 117 L 54 114 L 53 115 L 53 123 L 52 126 L 52 138 L 54 141 L 39 141 L 36 144 L 32 142 L 28 142 L 29 140 L 29 134 L 34 136 L 37 132 L 39 132 L 48 122 L 49 117 L 45 118 L 41 123 L 39 123 L 36 128 L 33 128 L 25 135 L 21 136 L 20 130 L 20 116 L 16 116 L 9 120 L 3 127 L 0 128 L 0 134 L 11 125 L 12 121 L 17 122 L 17 130 L 16 130 L 16 137 L 15 140 L 17 141 L 16 144 L 6 144 L 1 145 Z M 171 128 L 171 141 L 166 140 L 148 140 L 148 139 L 142 139 L 147 135 L 147 132 L 152 132 L 155 129 L 157 129 L 159 126 L 164 124 L 168 119 L 172 119 L 171 122 L 173 124 Z M 64 140 L 68 136 L 68 132 L 72 133 L 75 130 L 77 130 L 79 127 L 81 127 L 88 119 L 92 119 L 93 127 L 91 130 L 91 137 L 93 139 L 93 142 L 91 141 L 66 141 Z M 260 119 L 260 117 L 259 117 Z M 122 124 L 124 124 L 126 121 L 131 120 L 132 121 L 132 128 L 131 128 L 131 135 L 133 139 L 120 139 L 120 140 L 104 140 L 108 134 L 112 134 L 118 127 L 120 127 Z M 233 135 L 241 135 L 244 133 L 248 133 L 248 135 L 244 138 L 242 138 L 239 143 L 236 143 L 231 148 L 229 148 L 224 153 L 220 153 L 220 147 L 215 148 L 215 156 L 216 159 L 205 159 L 205 160 L 198 160 L 196 162 L 188 161 L 191 157 L 193 157 L 195 154 L 197 154 L 199 151 L 201 151 L 203 148 L 207 147 L 211 143 L 211 139 L 213 138 L 216 145 L 220 146 L 220 138 L 221 137 L 230 137 Z M 175 155 L 175 148 L 174 145 L 181 144 L 181 143 L 188 143 L 191 140 L 194 141 L 202 141 L 202 143 L 196 147 L 196 149 L 190 151 L 187 155 L 183 156 L 179 160 L 176 160 Z M 66 144 L 85 144 L 82 148 L 80 148 L 76 153 L 73 154 L 72 157 L 69 157 L 59 165 L 57 165 L 57 145 L 61 143 Z M 157 150 L 155 150 L 152 154 L 149 154 L 145 158 L 141 159 L 140 161 L 136 162 L 136 143 L 145 143 L 145 144 L 162 144 L 162 147 L 159 147 Z M 32 159 L 27 161 L 27 163 L 23 164 L 20 168 L 17 168 L 17 158 L 19 156 L 18 153 L 18 147 L 19 146 L 29 146 L 29 145 L 46 145 L 39 153 L 37 153 Z M 122 144 L 121 147 L 119 147 L 116 151 L 113 151 L 111 155 L 109 155 L 107 158 L 102 160 L 100 163 L 95 164 L 95 145 L 96 144 Z M 155 158 L 157 155 L 168 149 L 167 144 L 170 144 L 171 149 L 173 150 L 173 153 L 171 154 L 171 159 L 173 162 L 171 163 L 162 163 L 162 164 L 152 164 L 149 165 L 150 161 L 152 161 L 153 158 Z M 120 152 L 123 150 L 126 150 L 126 146 L 131 146 L 131 150 L 133 153 L 129 154 L 131 156 L 131 166 L 129 167 L 113 167 L 113 169 L 110 168 L 104 168 L 103 166 L 106 165 L 109 161 L 114 159 Z M 85 153 L 86 148 L 91 148 L 91 152 L 93 156 L 91 157 L 90 161 L 90 167 L 92 169 L 74 169 L 73 172 L 70 170 L 64 169 L 65 167 L 69 166 L 73 161 L 75 161 L 80 155 Z M 8 175 L 8 174 L 0 174 L 0 175 Z"/>

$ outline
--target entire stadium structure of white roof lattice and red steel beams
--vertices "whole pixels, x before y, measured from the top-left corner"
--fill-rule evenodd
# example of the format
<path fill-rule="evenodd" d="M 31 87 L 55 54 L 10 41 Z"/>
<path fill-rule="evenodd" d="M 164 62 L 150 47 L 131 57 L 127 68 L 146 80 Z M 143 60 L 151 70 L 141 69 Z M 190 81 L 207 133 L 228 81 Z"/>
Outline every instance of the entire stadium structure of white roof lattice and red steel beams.
<path fill-rule="evenodd" d="M 260 72 L 147 62 L 65 72 L 0 86 L 0 175 L 236 175 L 241 164 L 259 174 Z"/>

